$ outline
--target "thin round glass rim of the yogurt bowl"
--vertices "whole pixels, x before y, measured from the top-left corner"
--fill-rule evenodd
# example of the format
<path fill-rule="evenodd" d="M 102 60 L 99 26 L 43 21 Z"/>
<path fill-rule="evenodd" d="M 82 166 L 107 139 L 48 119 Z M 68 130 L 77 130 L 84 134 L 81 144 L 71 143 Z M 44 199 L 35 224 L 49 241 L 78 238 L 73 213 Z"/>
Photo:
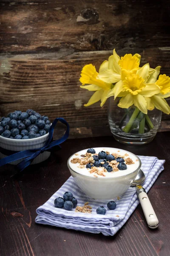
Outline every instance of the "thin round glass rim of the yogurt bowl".
<path fill-rule="evenodd" d="M 105 148 L 105 147 L 96 147 L 96 148 Z M 106 148 L 110 148 L 110 147 L 106 147 Z M 88 150 L 88 148 L 85 148 L 85 149 L 82 149 L 82 150 L 86 150 L 86 149 Z M 94 149 L 95 149 L 95 148 L 94 148 Z M 132 152 L 127 151 L 127 150 L 125 150 L 125 149 L 121 149 L 121 148 L 114 148 L 114 149 L 118 149 L 118 150 L 120 149 L 120 150 L 125 151 L 125 152 L 127 152 L 127 153 L 133 154 Z M 81 150 L 80 150 L 80 151 L 81 151 Z M 79 151 L 75 152 L 74 154 L 77 154 L 78 152 L 79 152 Z M 74 154 L 72 154 L 71 157 L 72 157 Z M 119 179 L 119 178 L 121 178 L 121 177 L 126 177 L 126 176 L 128 176 L 128 175 L 131 175 L 131 174 L 135 173 L 136 171 L 139 171 L 139 170 L 141 169 L 141 165 L 142 165 L 141 160 L 140 160 L 140 158 L 139 158 L 138 156 L 136 156 L 136 154 L 133 154 L 133 155 L 134 155 L 135 157 L 137 157 L 137 159 L 139 160 L 139 166 L 138 166 L 138 168 L 137 168 L 135 171 L 130 172 L 130 173 L 125 174 L 125 175 L 117 176 L 117 177 L 97 177 L 97 178 L 98 178 L 98 179 L 102 179 L 102 180 L 106 180 L 106 179 L 110 179 L 110 180 L 111 180 L 111 179 Z M 71 157 L 69 157 L 68 160 L 67 160 L 68 169 L 70 169 L 72 172 L 75 172 L 75 173 L 78 174 L 78 175 L 82 175 L 82 176 L 85 176 L 85 177 L 88 177 L 88 178 L 93 178 L 93 179 L 96 180 L 96 177 L 84 175 L 84 174 L 82 174 L 82 173 L 79 173 L 79 172 L 74 171 L 74 170 L 70 167 L 70 165 L 69 165 L 69 160 L 70 160 Z"/>

